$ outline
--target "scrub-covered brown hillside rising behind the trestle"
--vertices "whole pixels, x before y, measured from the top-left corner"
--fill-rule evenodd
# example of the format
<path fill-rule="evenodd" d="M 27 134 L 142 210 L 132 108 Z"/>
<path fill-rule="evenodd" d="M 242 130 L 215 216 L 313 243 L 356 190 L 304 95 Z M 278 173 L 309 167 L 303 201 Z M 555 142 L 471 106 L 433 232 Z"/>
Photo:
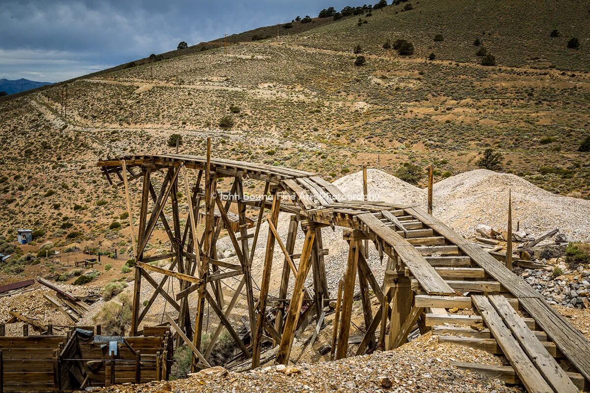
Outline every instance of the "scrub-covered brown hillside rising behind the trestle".
<path fill-rule="evenodd" d="M 590 135 L 588 48 L 583 39 L 578 50 L 562 41 L 588 35 L 588 12 L 560 4 L 422 0 L 403 12 L 404 3 L 390 5 L 365 14 L 361 27 L 358 16 L 316 19 L 306 24 L 310 29 L 296 22 L 293 34 L 279 38 L 252 41 L 244 34 L 228 38 L 244 42 L 226 48 L 79 78 L 68 83 L 65 114 L 61 85 L 4 98 L 0 234 L 12 239 L 16 227 L 31 227 L 45 232 L 40 243 L 129 252 L 122 187 L 108 186 L 94 163 L 172 152 L 166 141 L 174 133 L 182 135 L 183 153 L 203 154 L 211 136 L 215 156 L 317 171 L 326 179 L 365 163 L 388 173 L 403 163 L 433 163 L 440 181 L 476 169 L 491 147 L 503 154 L 503 170 L 551 193 L 587 199 L 589 153 L 577 150 Z M 466 28 L 471 15 L 485 27 L 481 39 L 501 67 L 476 63 L 477 31 Z M 559 45 L 522 22 L 545 26 L 546 15 L 562 21 Z M 435 34 L 444 41 L 430 42 Z M 398 37 L 414 41 L 415 55 L 380 48 Z M 516 44 L 502 44 L 508 41 Z M 527 62 L 530 54 L 517 49 L 525 41 L 556 68 L 578 71 Z M 367 59 L 362 67 L 349 53 L 354 44 Z M 458 62 L 425 60 L 433 50 Z M 234 124 L 221 128 L 225 116 Z M 137 187 L 133 182 L 132 191 Z M 113 222 L 122 227 L 108 229 Z"/>

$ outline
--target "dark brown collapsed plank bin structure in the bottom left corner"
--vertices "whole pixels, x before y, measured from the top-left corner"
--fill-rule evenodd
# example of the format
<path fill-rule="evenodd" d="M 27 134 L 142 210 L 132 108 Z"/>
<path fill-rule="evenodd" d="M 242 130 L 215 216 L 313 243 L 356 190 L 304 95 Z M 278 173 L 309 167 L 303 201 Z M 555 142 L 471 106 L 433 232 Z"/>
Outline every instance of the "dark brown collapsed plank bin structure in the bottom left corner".
<path fill-rule="evenodd" d="M 169 328 L 144 336 L 103 336 L 100 326 L 77 326 L 66 335 L 0 335 L 0 392 L 72 392 L 127 382 L 168 379 Z"/>

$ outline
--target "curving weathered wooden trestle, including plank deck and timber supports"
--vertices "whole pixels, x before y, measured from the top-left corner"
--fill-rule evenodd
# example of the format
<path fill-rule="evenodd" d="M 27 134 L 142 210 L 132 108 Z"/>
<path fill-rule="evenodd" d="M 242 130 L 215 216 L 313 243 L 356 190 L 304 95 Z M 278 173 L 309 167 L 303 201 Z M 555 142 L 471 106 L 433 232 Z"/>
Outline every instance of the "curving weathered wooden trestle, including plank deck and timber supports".
<path fill-rule="evenodd" d="M 210 146 L 210 145 L 208 145 Z M 209 152 L 208 148 L 208 152 Z M 330 293 L 326 283 L 322 228 L 345 228 L 344 239 L 349 242 L 348 266 L 341 282 L 342 300 L 337 305 L 338 319 L 332 353 L 336 359 L 347 356 L 350 317 L 358 275 L 365 318 L 365 335 L 356 354 L 373 351 L 379 345 L 395 348 L 407 341 L 415 326 L 425 331 L 434 329 L 441 341 L 454 341 L 477 348 L 503 353 L 513 365 L 519 380 L 531 392 L 576 391 L 590 380 L 590 342 L 573 328 L 534 289 L 514 275 L 489 253 L 465 240 L 450 227 L 414 206 L 383 202 L 348 200 L 333 184 L 313 173 L 264 164 L 180 154 L 159 156 L 130 156 L 119 160 L 99 161 L 107 179 L 126 182 L 143 179 L 141 205 L 137 233 L 135 295 L 133 298 L 133 322 L 130 335 L 137 335 L 143 318 L 149 312 L 156 296 L 164 296 L 176 309 L 178 318 L 172 322 L 181 329 L 186 340 L 194 348 L 194 366 L 205 366 L 212 346 L 224 327 L 237 341 L 242 359 L 251 358 L 251 365 L 260 365 L 261 354 L 276 354 L 276 361 L 287 364 L 291 345 L 301 325 L 309 324 L 315 317 L 316 331 L 322 326 Z M 196 183 L 189 184 L 188 170 L 198 171 Z M 155 190 L 151 176 L 162 171 L 165 178 L 159 190 Z M 222 200 L 218 179 L 233 179 L 229 192 Z M 244 196 L 242 179 L 264 182 L 263 199 Z M 224 183 L 227 184 L 227 183 Z M 182 190 L 189 206 L 186 224 L 181 226 L 177 191 Z M 127 196 L 129 199 L 129 196 Z M 172 203 L 172 223 L 163 214 L 166 203 Z M 238 230 L 230 222 L 228 212 L 235 204 Z M 148 207 L 151 206 L 151 210 Z M 253 217 L 254 233 L 248 235 L 245 207 L 257 207 Z M 213 212 L 221 213 L 215 220 Z M 265 209 L 268 214 L 265 215 Z M 129 208 L 129 210 L 131 210 Z M 196 236 L 195 217 L 204 210 L 205 229 Z M 286 240 L 277 237 L 278 212 L 291 214 Z M 131 216 L 131 214 L 130 214 Z M 251 260 L 257 245 L 263 220 L 268 223 L 264 271 L 260 292 L 254 293 L 251 276 Z M 250 220 L 251 221 L 251 220 Z M 156 223 L 161 223 L 172 243 L 172 252 L 159 256 L 144 256 Z M 233 226 L 232 226 L 233 225 Z M 217 259 L 216 242 L 221 229 L 228 235 L 235 248 L 240 265 L 231 265 Z M 303 249 L 294 250 L 295 237 L 301 227 L 305 234 Z M 362 241 L 370 240 L 381 258 L 387 259 L 387 269 L 379 282 L 366 261 Z M 284 255 L 278 306 L 268 310 L 270 272 L 273 269 L 273 253 L 280 247 Z M 299 266 L 294 260 L 299 257 Z M 150 262 L 173 259 L 168 269 L 150 265 Z M 313 288 L 305 285 L 307 275 L 313 270 Z M 156 282 L 150 271 L 163 273 Z M 294 286 L 291 295 L 287 288 L 291 273 Z M 219 280 L 241 276 L 240 285 L 232 298 L 224 299 Z M 165 292 L 168 279 L 178 279 L 181 292 L 176 298 Z M 139 293 L 143 281 L 155 288 L 145 307 L 140 306 Z M 369 288 L 381 306 L 371 310 Z M 245 341 L 236 333 L 229 316 L 245 289 L 248 305 L 248 329 L 250 338 Z M 188 294 L 198 293 L 196 315 L 190 315 Z M 340 296 L 341 295 L 341 296 Z M 286 300 L 289 299 L 290 301 Z M 202 316 L 206 304 L 214 310 L 221 323 L 215 330 L 211 344 L 202 348 Z M 510 305 L 507 307 L 506 305 Z M 449 313 L 456 308 L 473 308 L 477 315 Z M 526 313 L 523 318 L 518 313 Z M 473 329 L 481 323 L 482 330 Z M 381 327 L 380 327 L 381 326 Z M 303 326 L 304 328 L 304 326 Z M 181 340 L 181 335 L 179 335 Z M 272 349 L 263 351 L 263 344 Z M 493 344 L 491 344 L 493 343 Z M 278 346 L 278 348 L 276 347 Z M 268 358 L 268 356 L 265 356 Z M 558 359 L 557 361 L 555 359 Z M 566 374 L 560 366 L 567 359 L 574 374 Z M 559 363 L 558 363 L 559 361 Z M 461 366 L 466 366 L 462 364 Z M 470 365 L 467 365 L 470 366 Z M 481 369 L 481 365 L 471 365 Z M 485 368 L 485 367 L 484 367 Z M 508 378 L 508 377 L 507 377 Z M 580 382 L 581 381 L 581 382 Z"/>

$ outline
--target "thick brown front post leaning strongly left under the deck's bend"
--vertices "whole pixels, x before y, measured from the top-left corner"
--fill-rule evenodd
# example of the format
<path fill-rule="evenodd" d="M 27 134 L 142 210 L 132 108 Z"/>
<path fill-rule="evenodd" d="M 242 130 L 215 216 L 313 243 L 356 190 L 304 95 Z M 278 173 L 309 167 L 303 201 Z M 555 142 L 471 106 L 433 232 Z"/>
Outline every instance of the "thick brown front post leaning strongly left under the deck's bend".
<path fill-rule="evenodd" d="M 287 364 L 287 362 L 289 362 L 289 356 L 291 355 L 291 345 L 293 345 L 293 337 L 295 329 L 297 328 L 297 321 L 299 320 L 301 303 L 303 303 L 303 285 L 305 283 L 305 279 L 307 278 L 307 274 L 309 273 L 310 256 L 312 254 L 312 246 L 315 237 L 315 230 L 307 230 L 305 241 L 303 243 L 303 250 L 301 251 L 301 259 L 299 260 L 299 271 L 297 272 L 297 277 L 295 278 L 295 283 L 293 286 L 293 297 L 291 298 L 289 313 L 287 313 L 283 335 L 281 336 L 281 345 L 278 349 L 278 364 Z"/>

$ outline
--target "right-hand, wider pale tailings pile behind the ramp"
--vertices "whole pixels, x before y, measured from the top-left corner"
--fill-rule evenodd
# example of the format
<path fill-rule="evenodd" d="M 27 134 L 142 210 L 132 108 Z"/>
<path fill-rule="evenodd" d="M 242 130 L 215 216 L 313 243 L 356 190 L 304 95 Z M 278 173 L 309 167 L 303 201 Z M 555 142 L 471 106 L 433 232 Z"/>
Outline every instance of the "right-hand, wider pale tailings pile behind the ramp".
<path fill-rule="evenodd" d="M 535 236 L 559 228 L 569 241 L 590 240 L 590 201 L 552 194 L 514 174 L 478 169 L 434 184 L 434 216 L 466 235 L 477 224 L 506 228 L 512 190 L 514 230 Z"/>

